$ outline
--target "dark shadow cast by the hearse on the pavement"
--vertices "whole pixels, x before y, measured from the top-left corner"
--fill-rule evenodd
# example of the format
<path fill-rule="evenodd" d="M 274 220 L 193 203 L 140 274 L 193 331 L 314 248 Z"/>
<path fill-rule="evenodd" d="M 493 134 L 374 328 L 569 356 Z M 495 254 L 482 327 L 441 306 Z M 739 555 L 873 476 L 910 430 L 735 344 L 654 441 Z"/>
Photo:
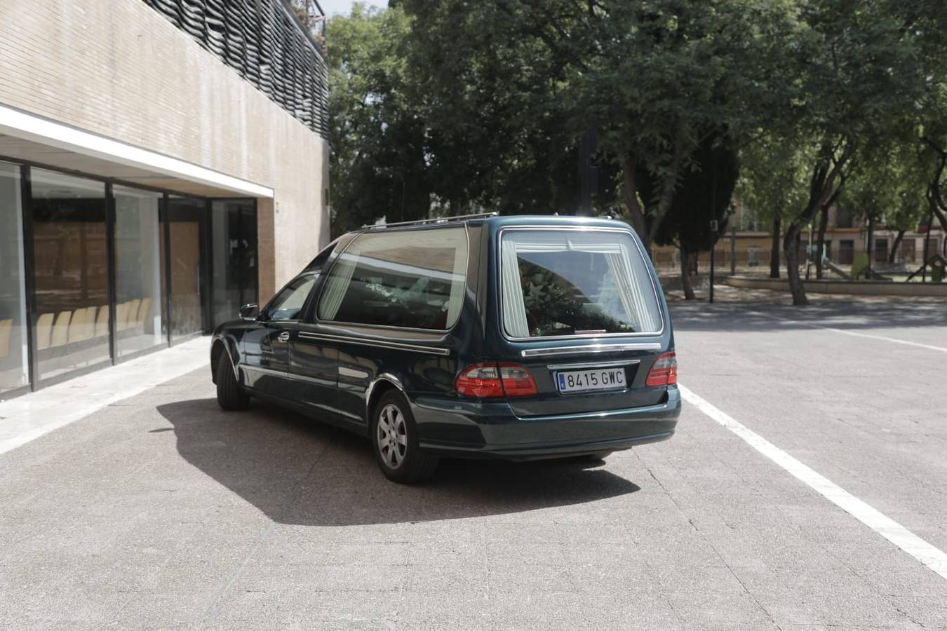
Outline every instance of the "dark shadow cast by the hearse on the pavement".
<path fill-rule="evenodd" d="M 600 461 L 578 460 L 444 459 L 434 480 L 405 486 L 384 478 L 366 439 L 275 406 L 254 401 L 249 411 L 223 412 L 215 399 L 206 398 L 157 410 L 173 426 L 181 457 L 279 523 L 484 517 L 639 490 L 601 468 Z"/>

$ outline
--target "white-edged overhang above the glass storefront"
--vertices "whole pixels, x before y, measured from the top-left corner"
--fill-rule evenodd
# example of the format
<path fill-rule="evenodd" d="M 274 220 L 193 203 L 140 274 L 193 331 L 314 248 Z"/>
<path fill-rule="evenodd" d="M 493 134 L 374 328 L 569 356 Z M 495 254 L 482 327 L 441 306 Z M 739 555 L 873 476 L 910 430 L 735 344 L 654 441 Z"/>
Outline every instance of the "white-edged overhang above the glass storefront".
<path fill-rule="evenodd" d="M 0 158 L 205 197 L 272 198 L 273 189 L 0 104 Z"/>

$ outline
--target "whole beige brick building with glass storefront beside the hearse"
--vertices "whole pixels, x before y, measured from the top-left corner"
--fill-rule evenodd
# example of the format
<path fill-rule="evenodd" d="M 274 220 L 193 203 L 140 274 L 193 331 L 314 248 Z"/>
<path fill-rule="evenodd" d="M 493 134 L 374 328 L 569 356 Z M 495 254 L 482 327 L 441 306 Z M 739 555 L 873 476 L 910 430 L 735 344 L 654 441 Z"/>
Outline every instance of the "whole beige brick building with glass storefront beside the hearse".
<path fill-rule="evenodd" d="M 209 330 L 329 240 L 328 75 L 283 0 L 0 9 L 0 398 Z"/>

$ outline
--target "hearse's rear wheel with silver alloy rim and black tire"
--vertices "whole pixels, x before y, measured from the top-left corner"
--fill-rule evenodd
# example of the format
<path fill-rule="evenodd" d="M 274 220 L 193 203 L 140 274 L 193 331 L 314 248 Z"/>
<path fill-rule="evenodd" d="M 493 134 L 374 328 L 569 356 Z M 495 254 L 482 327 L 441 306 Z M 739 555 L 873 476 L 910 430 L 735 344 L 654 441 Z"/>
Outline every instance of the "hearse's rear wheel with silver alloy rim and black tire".
<path fill-rule="evenodd" d="M 370 431 L 375 461 L 388 480 L 412 484 L 434 475 L 438 457 L 420 450 L 418 426 L 401 393 L 382 394 L 372 411 Z"/>

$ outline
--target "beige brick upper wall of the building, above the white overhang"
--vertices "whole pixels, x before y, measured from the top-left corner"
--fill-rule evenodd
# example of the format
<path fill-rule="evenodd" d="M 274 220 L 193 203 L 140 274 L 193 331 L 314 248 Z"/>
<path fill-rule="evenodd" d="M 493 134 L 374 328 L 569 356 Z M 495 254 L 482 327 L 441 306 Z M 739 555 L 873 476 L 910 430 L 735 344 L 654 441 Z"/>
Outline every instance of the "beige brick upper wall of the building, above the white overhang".
<path fill-rule="evenodd" d="M 0 3 L 0 103 L 273 188 L 261 300 L 329 240 L 328 143 L 141 0 Z"/>

